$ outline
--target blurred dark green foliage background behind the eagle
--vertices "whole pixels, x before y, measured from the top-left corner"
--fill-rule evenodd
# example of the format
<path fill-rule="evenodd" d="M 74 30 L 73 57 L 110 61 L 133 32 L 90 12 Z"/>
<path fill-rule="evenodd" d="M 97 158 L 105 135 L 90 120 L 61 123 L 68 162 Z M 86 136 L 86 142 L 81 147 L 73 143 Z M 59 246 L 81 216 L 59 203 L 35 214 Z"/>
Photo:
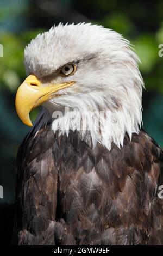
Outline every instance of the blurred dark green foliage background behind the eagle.
<path fill-rule="evenodd" d="M 151 1 L 150 1 L 151 2 Z M 143 124 L 163 147 L 163 2 L 117 0 L 1 0 L 0 2 L 0 185 L 1 202 L 15 197 L 16 154 L 29 128 L 15 111 L 17 87 L 26 78 L 24 47 L 38 33 L 63 23 L 92 22 L 115 29 L 135 46 L 145 81 Z M 35 119 L 38 109 L 32 112 Z"/>

